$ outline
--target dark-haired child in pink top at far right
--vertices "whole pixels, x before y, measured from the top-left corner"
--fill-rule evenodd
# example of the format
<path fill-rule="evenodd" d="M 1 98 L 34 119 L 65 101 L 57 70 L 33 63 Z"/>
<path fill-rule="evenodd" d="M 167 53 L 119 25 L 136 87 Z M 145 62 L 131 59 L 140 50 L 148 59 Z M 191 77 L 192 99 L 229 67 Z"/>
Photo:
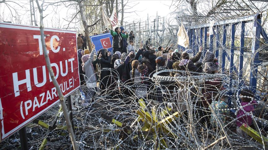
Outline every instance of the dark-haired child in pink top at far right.
<path fill-rule="evenodd" d="M 236 133 L 237 135 L 246 138 L 247 134 L 241 130 L 241 126 L 243 123 L 247 124 L 248 126 L 252 123 L 252 117 L 250 116 L 250 112 L 254 111 L 253 105 L 257 102 L 253 100 L 254 94 L 250 90 L 242 90 L 240 93 L 241 106 L 243 108 L 239 109 L 236 115 Z"/>

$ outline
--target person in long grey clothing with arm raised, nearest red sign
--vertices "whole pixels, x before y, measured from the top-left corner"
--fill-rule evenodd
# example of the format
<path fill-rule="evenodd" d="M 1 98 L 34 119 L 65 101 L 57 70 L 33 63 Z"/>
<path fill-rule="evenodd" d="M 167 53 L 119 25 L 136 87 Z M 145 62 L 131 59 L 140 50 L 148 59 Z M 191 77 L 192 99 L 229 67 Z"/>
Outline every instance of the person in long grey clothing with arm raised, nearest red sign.
<path fill-rule="evenodd" d="M 92 65 L 92 60 L 94 59 L 95 54 L 95 45 L 92 44 L 92 52 L 91 54 L 86 54 L 82 57 L 82 67 L 83 72 L 86 74 L 86 85 L 88 88 L 86 100 L 88 101 L 94 94 L 95 94 L 95 88 L 97 86 L 97 78 L 95 75 L 95 70 Z M 100 54 L 101 55 L 101 54 Z"/>

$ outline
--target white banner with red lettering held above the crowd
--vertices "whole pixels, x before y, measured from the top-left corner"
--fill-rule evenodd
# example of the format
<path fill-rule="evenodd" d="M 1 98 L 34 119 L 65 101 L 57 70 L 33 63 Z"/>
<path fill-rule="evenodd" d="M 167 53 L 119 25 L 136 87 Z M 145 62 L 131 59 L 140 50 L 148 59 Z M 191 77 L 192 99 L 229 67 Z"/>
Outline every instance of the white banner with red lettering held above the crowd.
<path fill-rule="evenodd" d="M 116 14 L 115 8 L 114 8 L 113 13 L 112 13 L 112 15 L 111 15 L 110 18 L 105 14 L 104 9 L 102 8 L 102 18 L 103 18 L 104 24 L 108 28 L 115 29 L 116 27 L 118 27 L 118 18 L 117 18 L 117 14 Z"/>

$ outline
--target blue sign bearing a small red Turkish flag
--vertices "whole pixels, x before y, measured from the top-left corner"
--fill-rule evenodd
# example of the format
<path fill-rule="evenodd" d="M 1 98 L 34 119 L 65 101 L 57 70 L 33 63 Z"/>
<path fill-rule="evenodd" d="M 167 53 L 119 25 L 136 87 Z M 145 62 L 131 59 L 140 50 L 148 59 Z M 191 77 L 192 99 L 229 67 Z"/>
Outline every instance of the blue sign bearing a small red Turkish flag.
<path fill-rule="evenodd" d="M 103 48 L 113 52 L 113 36 L 111 33 L 104 33 L 99 35 L 90 36 L 91 42 L 95 44 L 96 53 Z"/>

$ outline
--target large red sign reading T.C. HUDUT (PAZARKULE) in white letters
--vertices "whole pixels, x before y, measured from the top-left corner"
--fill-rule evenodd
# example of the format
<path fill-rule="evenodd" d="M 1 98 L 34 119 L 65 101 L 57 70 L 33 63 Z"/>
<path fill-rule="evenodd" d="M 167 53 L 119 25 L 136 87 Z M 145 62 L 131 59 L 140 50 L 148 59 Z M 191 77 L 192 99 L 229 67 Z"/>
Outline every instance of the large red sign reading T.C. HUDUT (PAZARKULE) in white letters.
<path fill-rule="evenodd" d="M 63 94 L 80 86 L 76 32 L 45 28 L 47 52 Z M 3 140 L 59 102 L 39 27 L 0 23 L 0 132 Z"/>

